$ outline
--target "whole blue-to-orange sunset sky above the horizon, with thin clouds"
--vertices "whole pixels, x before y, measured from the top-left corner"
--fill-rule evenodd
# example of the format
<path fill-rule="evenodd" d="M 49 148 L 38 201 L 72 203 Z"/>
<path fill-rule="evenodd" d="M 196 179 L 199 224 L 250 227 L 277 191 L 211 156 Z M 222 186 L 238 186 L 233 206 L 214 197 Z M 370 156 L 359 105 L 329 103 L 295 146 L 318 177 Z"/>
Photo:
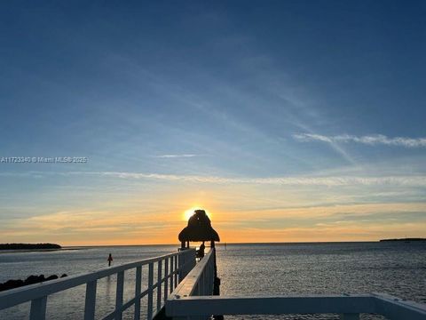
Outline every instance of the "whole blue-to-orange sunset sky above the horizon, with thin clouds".
<path fill-rule="evenodd" d="M 426 236 L 425 15 L 2 2 L 0 243 L 177 244 L 194 208 L 226 243 Z"/>

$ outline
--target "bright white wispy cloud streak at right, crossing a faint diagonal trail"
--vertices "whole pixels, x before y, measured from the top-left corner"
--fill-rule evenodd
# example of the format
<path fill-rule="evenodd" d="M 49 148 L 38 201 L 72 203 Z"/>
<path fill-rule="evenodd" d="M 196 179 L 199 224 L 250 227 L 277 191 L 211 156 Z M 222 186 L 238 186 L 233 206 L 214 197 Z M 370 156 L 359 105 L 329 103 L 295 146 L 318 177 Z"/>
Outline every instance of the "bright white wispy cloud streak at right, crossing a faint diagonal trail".
<path fill-rule="evenodd" d="M 426 138 L 407 138 L 407 137 L 394 137 L 390 138 L 383 134 L 373 134 L 365 136 L 355 136 L 350 134 L 341 134 L 335 136 L 326 136 L 321 134 L 312 133 L 296 133 L 293 134 L 293 138 L 303 142 L 309 141 L 322 141 L 328 143 L 335 142 L 357 142 L 370 146 L 385 145 L 385 146 L 397 146 L 405 148 L 424 148 L 426 147 Z"/>

